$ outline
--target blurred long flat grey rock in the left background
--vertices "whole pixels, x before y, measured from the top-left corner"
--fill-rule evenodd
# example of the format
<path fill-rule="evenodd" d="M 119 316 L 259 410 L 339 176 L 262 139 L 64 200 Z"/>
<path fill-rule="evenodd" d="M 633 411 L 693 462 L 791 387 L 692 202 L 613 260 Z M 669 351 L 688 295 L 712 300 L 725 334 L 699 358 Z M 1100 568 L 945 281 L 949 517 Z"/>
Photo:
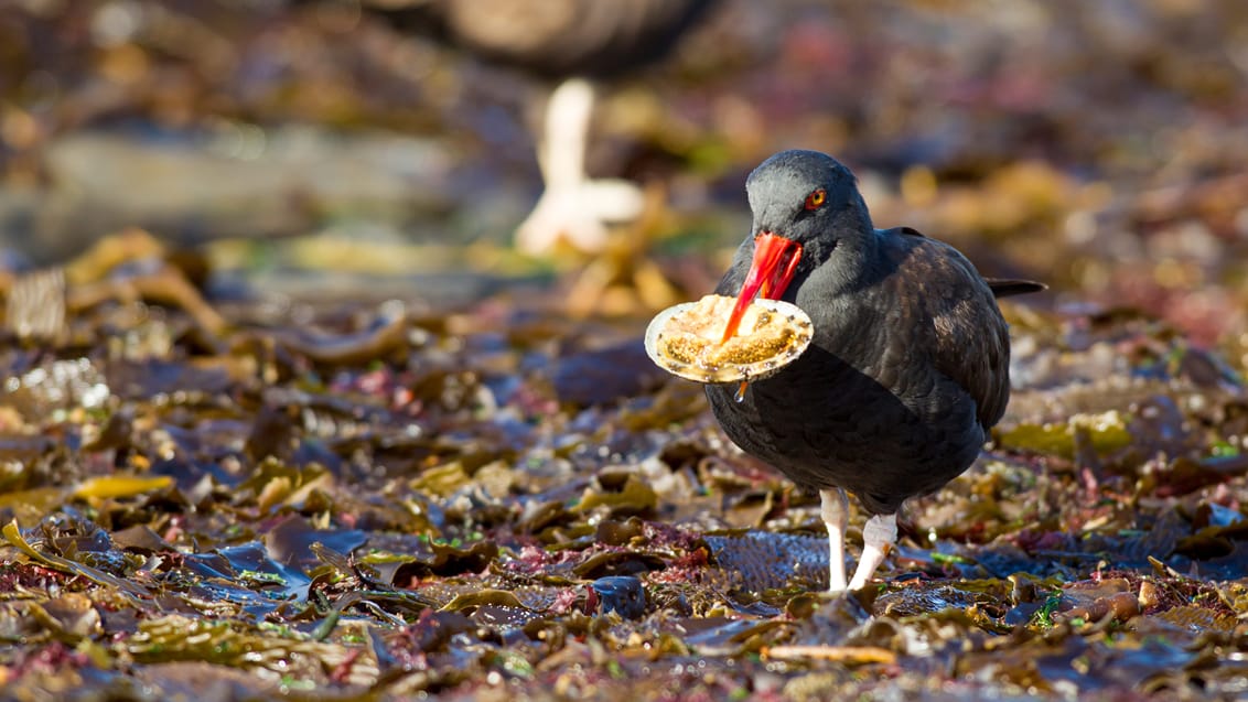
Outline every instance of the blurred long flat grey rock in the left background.
<path fill-rule="evenodd" d="M 77 132 L 51 143 L 45 158 L 55 190 L 34 198 L 39 229 L 6 242 L 45 261 L 124 226 L 200 237 L 291 234 L 306 231 L 317 211 L 363 203 L 374 216 L 402 219 L 446 207 L 449 167 L 432 141 L 313 126 Z"/>

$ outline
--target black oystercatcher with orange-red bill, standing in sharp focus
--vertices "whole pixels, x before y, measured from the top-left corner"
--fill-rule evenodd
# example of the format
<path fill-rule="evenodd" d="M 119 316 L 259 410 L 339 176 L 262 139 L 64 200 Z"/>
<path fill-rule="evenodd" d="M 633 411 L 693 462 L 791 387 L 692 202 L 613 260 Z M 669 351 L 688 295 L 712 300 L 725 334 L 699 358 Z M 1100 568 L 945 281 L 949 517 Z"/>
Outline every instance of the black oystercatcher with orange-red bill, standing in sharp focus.
<path fill-rule="evenodd" d="M 745 388 L 706 387 L 724 431 L 797 485 L 819 490 L 830 582 L 846 589 L 846 491 L 872 516 L 851 590 L 897 539 L 896 512 L 975 461 L 1010 398 L 1010 337 L 996 297 L 1043 289 L 986 281 L 953 247 L 876 229 L 854 175 L 814 151 L 778 153 L 746 181 L 753 236 L 716 292 L 791 302 L 810 348 Z"/>

